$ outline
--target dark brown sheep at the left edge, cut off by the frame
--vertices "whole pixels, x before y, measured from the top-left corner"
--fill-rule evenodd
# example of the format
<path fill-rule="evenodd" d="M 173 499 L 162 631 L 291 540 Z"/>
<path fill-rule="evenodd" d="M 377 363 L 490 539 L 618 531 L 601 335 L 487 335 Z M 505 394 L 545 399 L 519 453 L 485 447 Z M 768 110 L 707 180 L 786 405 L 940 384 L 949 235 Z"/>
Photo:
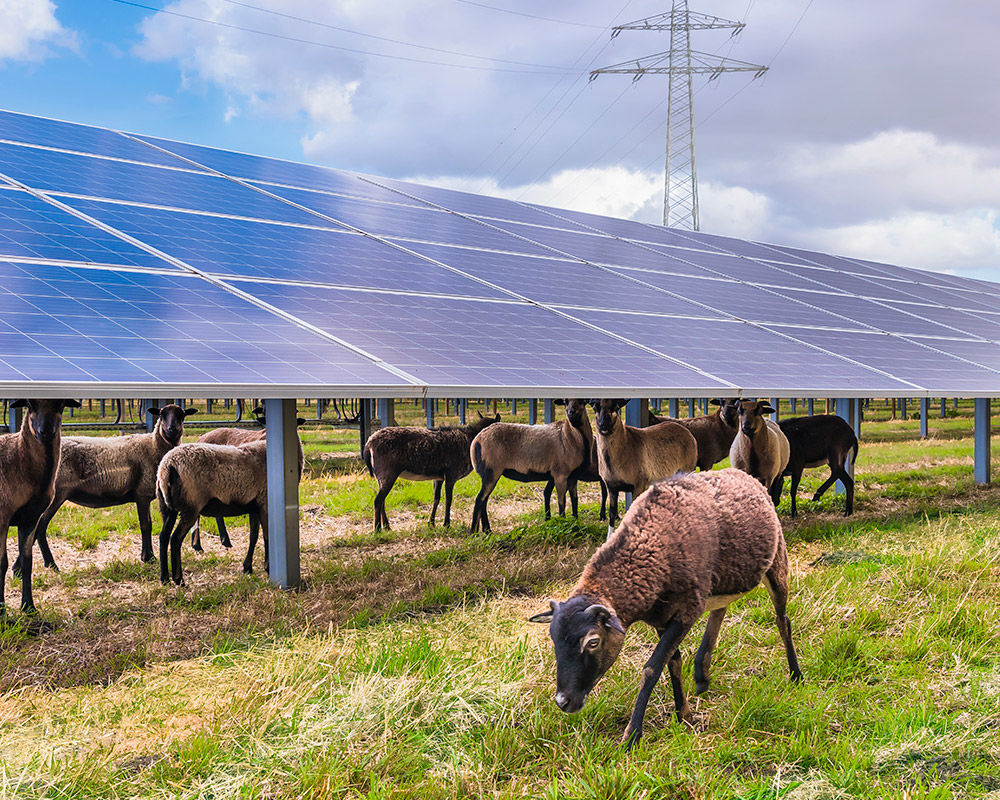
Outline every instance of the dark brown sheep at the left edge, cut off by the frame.
<path fill-rule="evenodd" d="M 31 550 L 35 527 L 55 494 L 61 455 L 62 413 L 80 408 L 76 400 L 15 400 L 11 408 L 27 408 L 21 430 L 0 436 L 0 627 L 7 614 L 4 590 L 7 581 L 7 530 L 17 526 L 18 560 L 21 563 L 21 611 L 34 615 L 31 596 Z M 32 632 L 49 626 L 33 621 Z"/>

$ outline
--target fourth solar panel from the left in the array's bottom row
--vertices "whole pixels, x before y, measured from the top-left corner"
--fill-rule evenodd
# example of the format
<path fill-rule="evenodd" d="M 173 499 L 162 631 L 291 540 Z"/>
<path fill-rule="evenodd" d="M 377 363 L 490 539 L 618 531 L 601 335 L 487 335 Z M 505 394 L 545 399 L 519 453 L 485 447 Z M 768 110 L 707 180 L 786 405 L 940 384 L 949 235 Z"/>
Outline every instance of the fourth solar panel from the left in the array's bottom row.
<path fill-rule="evenodd" d="M 961 395 L 966 391 L 1000 392 L 1000 374 L 969 364 L 914 341 L 887 333 L 839 331 L 835 335 L 812 328 L 782 328 L 804 342 L 826 347 L 847 358 L 884 370 L 931 391 Z M 951 341 L 928 339 L 934 346 L 950 348 Z M 901 393 L 905 396 L 905 391 Z"/>

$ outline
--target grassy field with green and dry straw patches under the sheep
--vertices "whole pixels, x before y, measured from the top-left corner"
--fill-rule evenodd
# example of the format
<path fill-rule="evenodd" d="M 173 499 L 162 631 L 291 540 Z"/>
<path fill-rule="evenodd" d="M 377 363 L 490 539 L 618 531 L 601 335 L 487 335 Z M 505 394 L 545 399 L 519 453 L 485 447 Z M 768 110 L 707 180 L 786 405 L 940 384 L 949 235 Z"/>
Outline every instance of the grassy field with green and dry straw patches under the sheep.
<path fill-rule="evenodd" d="M 134 508 L 66 506 L 50 528 L 62 571 L 36 569 L 56 630 L 0 633 L 0 797 L 998 798 L 1000 488 L 974 486 L 971 403 L 932 406 L 926 441 L 873 406 L 855 515 L 832 492 L 810 502 L 825 470 L 797 519 L 787 491 L 779 509 L 805 682 L 757 590 L 730 608 L 695 728 L 661 684 L 628 755 L 652 632 L 630 631 L 569 716 L 546 629 L 525 621 L 604 540 L 594 486 L 579 523 L 545 522 L 540 486 L 501 481 L 494 533 L 470 535 L 428 527 L 431 485 L 401 481 L 394 528 L 374 535 L 357 432 L 307 427 L 294 592 L 241 574 L 245 520 L 231 551 L 204 521 L 187 586 L 162 587 Z M 400 401 L 397 418 L 422 412 Z M 477 488 L 459 484 L 458 522 Z"/>

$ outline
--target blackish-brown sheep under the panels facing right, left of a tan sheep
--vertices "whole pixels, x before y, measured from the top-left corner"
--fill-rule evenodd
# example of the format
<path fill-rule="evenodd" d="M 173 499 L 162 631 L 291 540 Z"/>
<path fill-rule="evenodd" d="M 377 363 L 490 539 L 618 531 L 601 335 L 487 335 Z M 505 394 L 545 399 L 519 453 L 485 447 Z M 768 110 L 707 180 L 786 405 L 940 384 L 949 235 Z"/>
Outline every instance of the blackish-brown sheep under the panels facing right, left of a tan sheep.
<path fill-rule="evenodd" d="M 444 526 L 451 525 L 451 498 L 455 482 L 472 472 L 469 447 L 476 435 L 487 426 L 500 421 L 500 415 L 484 417 L 462 427 L 392 427 L 375 431 L 365 442 L 362 453 L 365 466 L 378 480 L 375 495 L 375 530 L 389 529 L 385 499 L 398 478 L 410 481 L 434 481 L 434 505 L 430 525 L 441 502 L 444 485 Z"/>

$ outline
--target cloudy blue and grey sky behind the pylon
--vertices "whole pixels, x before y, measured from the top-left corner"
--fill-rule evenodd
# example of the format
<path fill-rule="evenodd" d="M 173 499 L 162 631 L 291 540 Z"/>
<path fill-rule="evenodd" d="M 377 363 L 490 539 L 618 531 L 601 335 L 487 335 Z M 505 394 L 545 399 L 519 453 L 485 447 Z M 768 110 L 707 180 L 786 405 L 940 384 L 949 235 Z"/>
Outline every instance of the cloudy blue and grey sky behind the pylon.
<path fill-rule="evenodd" d="M 670 0 L 0 0 L 0 107 L 662 219 Z M 692 0 L 701 229 L 1000 281 L 989 0 Z"/>

